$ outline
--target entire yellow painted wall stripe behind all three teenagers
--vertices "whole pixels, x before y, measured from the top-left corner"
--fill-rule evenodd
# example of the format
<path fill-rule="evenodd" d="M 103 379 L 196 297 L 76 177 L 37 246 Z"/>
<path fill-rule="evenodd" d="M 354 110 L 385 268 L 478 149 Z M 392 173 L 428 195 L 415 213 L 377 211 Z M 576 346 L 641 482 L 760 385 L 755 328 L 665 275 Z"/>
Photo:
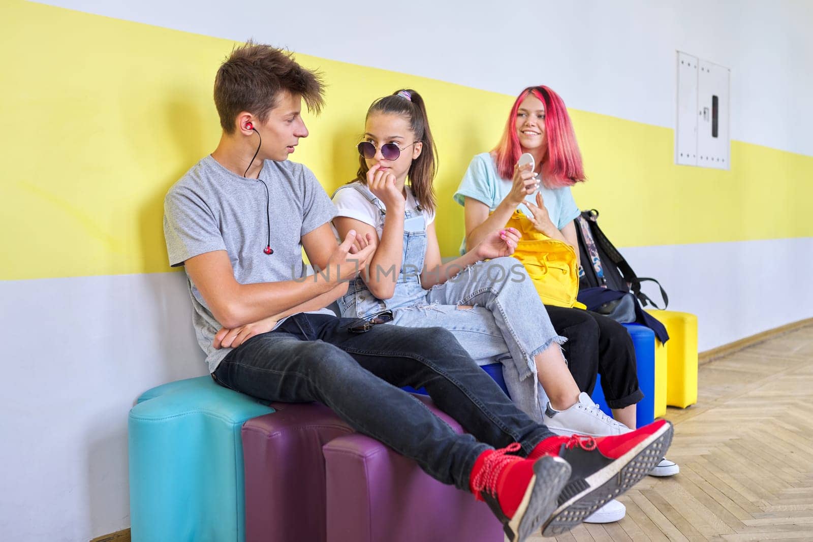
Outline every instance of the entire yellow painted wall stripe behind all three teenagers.
<path fill-rule="evenodd" d="M 233 42 L 20 0 L 2 4 L 0 21 L 0 46 L 13 51 L 0 86 L 0 280 L 168 271 L 163 195 L 217 145 L 211 85 Z M 328 106 L 306 115 L 311 137 L 293 158 L 328 191 L 354 176 L 369 103 L 401 87 L 424 95 L 440 152 L 437 231 L 454 254 L 463 211 L 451 194 L 498 139 L 513 98 L 298 59 L 324 72 Z M 813 197 L 811 157 L 735 141 L 731 171 L 677 167 L 671 129 L 572 117 L 590 176 L 576 202 L 602 210 L 617 245 L 813 236 L 794 218 Z"/>

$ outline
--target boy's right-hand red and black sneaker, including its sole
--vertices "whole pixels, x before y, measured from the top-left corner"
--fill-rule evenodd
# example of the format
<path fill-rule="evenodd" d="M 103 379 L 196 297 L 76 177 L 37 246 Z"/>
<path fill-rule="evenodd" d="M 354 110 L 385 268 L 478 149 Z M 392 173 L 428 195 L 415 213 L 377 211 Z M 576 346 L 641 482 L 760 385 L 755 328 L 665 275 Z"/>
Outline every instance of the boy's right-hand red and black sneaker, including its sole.
<path fill-rule="evenodd" d="M 572 470 L 542 535 L 570 531 L 607 501 L 632 488 L 660 462 L 672 443 L 672 432 L 672 423 L 658 420 L 624 435 L 551 436 L 542 440 L 528 459 L 562 457 Z"/>

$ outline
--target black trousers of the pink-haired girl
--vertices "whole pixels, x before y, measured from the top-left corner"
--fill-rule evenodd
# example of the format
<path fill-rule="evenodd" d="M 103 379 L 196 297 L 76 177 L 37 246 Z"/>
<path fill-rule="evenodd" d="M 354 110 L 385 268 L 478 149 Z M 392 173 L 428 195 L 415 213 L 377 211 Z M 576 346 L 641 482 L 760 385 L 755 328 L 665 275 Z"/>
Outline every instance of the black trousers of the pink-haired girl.
<path fill-rule="evenodd" d="M 622 409 L 644 398 L 638 387 L 633 339 L 620 323 L 589 310 L 547 306 L 550 322 L 567 337 L 563 353 L 582 392 L 593 393 L 602 375 L 607 406 Z"/>

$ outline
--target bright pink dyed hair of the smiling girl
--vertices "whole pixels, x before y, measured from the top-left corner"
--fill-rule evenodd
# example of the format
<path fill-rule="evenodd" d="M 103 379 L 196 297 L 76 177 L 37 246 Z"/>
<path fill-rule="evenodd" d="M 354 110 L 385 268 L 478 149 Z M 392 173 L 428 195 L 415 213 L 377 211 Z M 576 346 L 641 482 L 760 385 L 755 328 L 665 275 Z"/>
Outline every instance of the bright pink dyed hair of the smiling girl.
<path fill-rule="evenodd" d="M 543 179 L 546 187 L 557 189 L 562 186 L 572 186 L 577 182 L 587 180 L 585 168 L 581 163 L 579 144 L 576 143 L 576 133 L 570 115 L 567 115 L 559 94 L 546 86 L 528 87 L 516 98 L 511 114 L 508 115 L 505 131 L 496 147 L 492 150 L 497 154 L 496 163 L 499 176 L 503 179 L 514 177 L 514 166 L 522 154 L 520 138 L 516 135 L 516 115 L 520 104 L 528 94 L 533 94 L 540 102 L 545 104 L 545 133 L 548 141 L 548 150 L 543 163 L 549 163 L 548 176 Z"/>

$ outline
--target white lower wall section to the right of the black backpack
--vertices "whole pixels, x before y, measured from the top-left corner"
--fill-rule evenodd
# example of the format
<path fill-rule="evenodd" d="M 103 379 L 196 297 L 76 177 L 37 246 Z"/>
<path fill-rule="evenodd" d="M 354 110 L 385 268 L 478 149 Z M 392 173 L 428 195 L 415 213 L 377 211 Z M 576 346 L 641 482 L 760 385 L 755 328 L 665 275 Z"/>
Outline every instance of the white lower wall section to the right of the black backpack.
<path fill-rule="evenodd" d="M 698 349 L 811 318 L 813 238 L 627 247 L 639 276 L 663 284 L 670 310 L 698 316 Z M 658 287 L 644 291 L 660 302 Z"/>

